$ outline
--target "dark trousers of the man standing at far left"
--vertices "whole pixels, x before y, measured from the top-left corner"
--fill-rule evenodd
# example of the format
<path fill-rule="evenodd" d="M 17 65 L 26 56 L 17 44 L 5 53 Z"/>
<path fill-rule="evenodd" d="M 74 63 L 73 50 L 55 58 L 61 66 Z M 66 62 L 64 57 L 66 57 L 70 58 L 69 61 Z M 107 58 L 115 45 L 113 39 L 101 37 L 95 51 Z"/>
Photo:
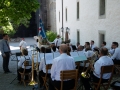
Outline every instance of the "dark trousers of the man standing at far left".
<path fill-rule="evenodd" d="M 6 57 L 3 57 L 3 70 L 5 72 L 9 71 L 8 65 L 9 65 L 9 58 L 10 58 L 10 52 L 5 52 Z"/>

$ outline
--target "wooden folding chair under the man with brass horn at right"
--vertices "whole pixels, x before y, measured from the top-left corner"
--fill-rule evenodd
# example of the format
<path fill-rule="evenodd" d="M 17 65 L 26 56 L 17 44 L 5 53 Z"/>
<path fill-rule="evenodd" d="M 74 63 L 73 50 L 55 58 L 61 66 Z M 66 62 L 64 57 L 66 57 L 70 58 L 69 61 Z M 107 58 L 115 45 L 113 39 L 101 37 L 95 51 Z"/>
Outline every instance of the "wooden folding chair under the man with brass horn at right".
<path fill-rule="evenodd" d="M 104 88 L 104 90 L 108 90 L 110 82 L 113 77 L 113 71 L 114 71 L 114 65 L 101 67 L 101 77 L 100 77 L 99 82 L 98 83 L 93 82 L 95 90 L 98 90 L 100 86 L 102 86 Z M 102 77 L 103 77 L 103 74 L 105 74 L 105 73 L 111 73 L 111 76 L 110 76 L 108 82 L 102 83 Z"/>

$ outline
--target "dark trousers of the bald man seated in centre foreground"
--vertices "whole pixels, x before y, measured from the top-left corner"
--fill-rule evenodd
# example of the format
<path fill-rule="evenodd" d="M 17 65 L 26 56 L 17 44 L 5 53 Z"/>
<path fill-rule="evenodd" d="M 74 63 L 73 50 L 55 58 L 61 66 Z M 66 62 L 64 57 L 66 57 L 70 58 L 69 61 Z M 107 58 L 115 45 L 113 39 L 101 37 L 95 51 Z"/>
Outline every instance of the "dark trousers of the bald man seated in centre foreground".
<path fill-rule="evenodd" d="M 63 81 L 63 89 L 62 90 L 71 90 L 75 86 L 75 80 L 68 80 L 68 81 Z M 61 88 L 61 81 L 52 81 L 50 78 L 49 80 L 49 90 L 55 90 L 55 87 L 60 90 Z"/>

